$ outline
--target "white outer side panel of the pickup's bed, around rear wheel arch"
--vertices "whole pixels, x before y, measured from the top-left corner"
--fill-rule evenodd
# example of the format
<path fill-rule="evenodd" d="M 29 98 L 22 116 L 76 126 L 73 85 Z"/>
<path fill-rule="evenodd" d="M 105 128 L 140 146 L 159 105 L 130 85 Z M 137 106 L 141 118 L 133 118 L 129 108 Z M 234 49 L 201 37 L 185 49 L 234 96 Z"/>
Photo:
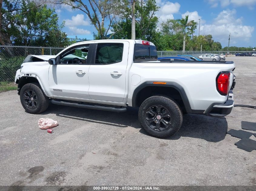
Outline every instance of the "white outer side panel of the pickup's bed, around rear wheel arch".
<path fill-rule="evenodd" d="M 224 103 L 228 96 L 222 96 L 216 89 L 216 77 L 221 71 L 232 71 L 234 64 L 217 63 L 163 63 L 136 62 L 129 73 L 128 105 L 132 105 L 134 90 L 145 81 L 176 82 L 188 97 L 192 110 L 206 110 L 212 103 Z M 140 76 L 140 82 L 132 83 L 132 76 Z M 137 76 L 138 75 L 138 76 Z M 230 76 L 230 88 L 233 73 Z"/>

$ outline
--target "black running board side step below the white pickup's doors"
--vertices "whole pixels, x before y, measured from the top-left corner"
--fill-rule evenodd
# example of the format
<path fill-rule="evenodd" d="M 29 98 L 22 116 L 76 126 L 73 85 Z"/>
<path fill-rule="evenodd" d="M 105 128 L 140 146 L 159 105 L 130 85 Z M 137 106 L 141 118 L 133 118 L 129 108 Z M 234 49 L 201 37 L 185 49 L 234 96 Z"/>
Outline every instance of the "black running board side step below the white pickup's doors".
<path fill-rule="evenodd" d="M 52 100 L 52 103 L 56 104 L 56 105 L 81 107 L 81 108 L 87 108 L 87 109 L 93 109 L 93 110 L 126 112 L 126 108 L 125 107 L 123 107 L 123 108 L 115 108 L 115 107 L 106 107 L 106 106 L 98 106 L 98 105 L 85 105 L 85 104 L 81 104 L 81 103 L 71 103 L 71 102 L 56 101 L 56 100 Z"/>

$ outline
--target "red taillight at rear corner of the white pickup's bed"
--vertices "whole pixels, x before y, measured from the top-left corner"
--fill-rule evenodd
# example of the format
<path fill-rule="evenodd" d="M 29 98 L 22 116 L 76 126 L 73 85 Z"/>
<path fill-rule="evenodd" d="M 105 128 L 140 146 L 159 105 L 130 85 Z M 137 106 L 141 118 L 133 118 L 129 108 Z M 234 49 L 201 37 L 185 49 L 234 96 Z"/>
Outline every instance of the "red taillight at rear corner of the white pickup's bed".
<path fill-rule="evenodd" d="M 216 78 L 216 88 L 221 95 L 228 95 L 230 72 L 220 72 Z"/>

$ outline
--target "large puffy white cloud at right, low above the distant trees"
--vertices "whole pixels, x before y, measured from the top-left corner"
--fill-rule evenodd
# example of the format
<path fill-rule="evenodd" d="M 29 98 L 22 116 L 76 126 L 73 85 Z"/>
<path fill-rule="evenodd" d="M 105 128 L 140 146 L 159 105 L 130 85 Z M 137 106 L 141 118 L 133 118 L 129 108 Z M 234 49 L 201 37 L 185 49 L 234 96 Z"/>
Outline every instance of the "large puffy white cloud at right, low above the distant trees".
<path fill-rule="evenodd" d="M 231 42 L 249 41 L 254 31 L 253 26 L 243 25 L 243 18 L 236 18 L 236 10 L 223 10 L 214 18 L 212 24 L 203 24 L 200 27 L 200 34 L 211 34 L 215 41 L 227 41 L 231 33 Z"/>

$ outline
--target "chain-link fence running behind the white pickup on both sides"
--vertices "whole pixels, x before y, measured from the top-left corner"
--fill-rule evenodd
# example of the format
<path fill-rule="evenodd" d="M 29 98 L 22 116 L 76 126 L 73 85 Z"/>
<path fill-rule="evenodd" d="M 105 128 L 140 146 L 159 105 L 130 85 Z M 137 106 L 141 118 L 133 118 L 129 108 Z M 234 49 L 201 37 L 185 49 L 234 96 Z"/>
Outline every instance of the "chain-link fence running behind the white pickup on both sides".
<path fill-rule="evenodd" d="M 64 48 L 31 47 L 31 46 L 0 46 L 0 92 L 16 90 L 14 84 L 16 71 L 28 55 L 56 55 Z M 158 51 L 158 57 L 170 57 L 177 55 L 191 55 L 196 58 L 203 54 L 218 54 L 225 56 L 226 61 L 234 61 L 236 64 L 235 75 L 250 76 L 252 84 L 256 79 L 256 53 L 255 52 L 201 52 L 201 51 Z M 239 75 L 238 75 L 239 74 Z M 254 79 L 254 80 L 253 80 Z M 248 80 L 248 79 L 247 79 Z M 254 86 L 255 89 L 255 86 Z"/>

